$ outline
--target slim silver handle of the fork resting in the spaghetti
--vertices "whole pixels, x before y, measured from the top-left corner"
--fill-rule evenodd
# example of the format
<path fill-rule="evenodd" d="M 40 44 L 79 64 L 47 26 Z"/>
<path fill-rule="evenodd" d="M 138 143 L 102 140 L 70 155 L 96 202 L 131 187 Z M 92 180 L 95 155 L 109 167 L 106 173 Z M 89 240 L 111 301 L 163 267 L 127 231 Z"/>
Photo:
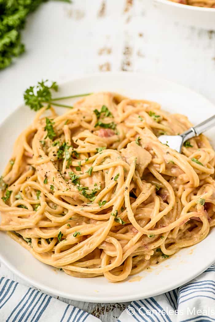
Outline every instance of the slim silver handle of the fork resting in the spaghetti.
<path fill-rule="evenodd" d="M 205 121 L 201 122 L 200 124 L 189 128 L 187 131 L 181 134 L 183 138 L 183 143 L 192 137 L 197 137 L 201 133 L 209 130 L 215 125 L 215 115 L 211 116 L 210 118 L 206 119 Z"/>

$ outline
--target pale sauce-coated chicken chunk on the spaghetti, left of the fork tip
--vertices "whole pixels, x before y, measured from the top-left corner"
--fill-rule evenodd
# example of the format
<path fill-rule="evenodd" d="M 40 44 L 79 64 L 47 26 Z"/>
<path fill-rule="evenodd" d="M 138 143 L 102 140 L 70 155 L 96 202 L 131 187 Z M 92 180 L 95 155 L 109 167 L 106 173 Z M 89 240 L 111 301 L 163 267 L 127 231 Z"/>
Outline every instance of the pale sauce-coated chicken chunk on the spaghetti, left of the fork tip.
<path fill-rule="evenodd" d="M 132 163 L 133 157 L 137 158 L 137 171 L 139 172 L 140 177 L 142 177 L 143 171 L 151 162 L 151 154 L 135 142 L 129 143 L 127 147 L 120 150 L 120 152 L 128 164 Z"/>

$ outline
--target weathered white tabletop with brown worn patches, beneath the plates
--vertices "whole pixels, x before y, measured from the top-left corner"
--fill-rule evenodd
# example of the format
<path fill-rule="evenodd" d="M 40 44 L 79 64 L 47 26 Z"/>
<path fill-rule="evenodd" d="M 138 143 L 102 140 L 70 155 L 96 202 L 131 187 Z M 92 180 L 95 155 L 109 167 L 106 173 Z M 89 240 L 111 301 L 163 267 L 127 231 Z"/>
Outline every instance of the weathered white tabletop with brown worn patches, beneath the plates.
<path fill-rule="evenodd" d="M 26 53 L 0 71 L 0 121 L 42 78 L 60 83 L 106 70 L 157 74 L 215 104 L 215 31 L 175 23 L 174 17 L 167 21 L 148 0 L 50 1 L 29 17 L 22 36 Z M 0 275 L 26 284 L 3 264 Z M 126 305 L 62 300 L 103 322 L 116 321 Z"/>

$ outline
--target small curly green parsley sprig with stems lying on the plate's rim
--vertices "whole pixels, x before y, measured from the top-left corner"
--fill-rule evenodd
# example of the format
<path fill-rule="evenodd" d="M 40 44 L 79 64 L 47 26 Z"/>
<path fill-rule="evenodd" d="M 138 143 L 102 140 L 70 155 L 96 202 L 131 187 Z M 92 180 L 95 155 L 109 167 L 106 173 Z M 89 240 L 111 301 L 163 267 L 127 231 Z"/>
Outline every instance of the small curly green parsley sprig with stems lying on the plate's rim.
<path fill-rule="evenodd" d="M 45 80 L 45 81 L 42 80 L 38 82 L 37 85 L 30 86 L 25 90 L 24 92 L 25 104 L 28 105 L 30 109 L 33 109 L 34 111 L 38 111 L 39 109 L 41 109 L 44 106 L 44 104 L 48 104 L 48 107 L 50 107 L 50 105 L 52 104 L 55 106 L 73 109 L 73 106 L 69 106 L 61 103 L 55 103 L 55 101 L 87 96 L 91 94 L 91 93 L 77 94 L 77 95 L 71 95 L 71 96 L 52 98 L 53 91 L 55 92 L 58 91 L 58 84 L 56 83 L 56 81 L 49 82 L 48 80 Z"/>

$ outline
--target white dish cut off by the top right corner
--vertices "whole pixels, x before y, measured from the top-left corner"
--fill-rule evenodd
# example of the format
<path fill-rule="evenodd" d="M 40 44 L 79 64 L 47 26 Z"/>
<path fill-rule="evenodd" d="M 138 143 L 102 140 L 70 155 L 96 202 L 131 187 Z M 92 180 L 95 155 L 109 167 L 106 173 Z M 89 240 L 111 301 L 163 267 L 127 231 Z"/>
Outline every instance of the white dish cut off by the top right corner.
<path fill-rule="evenodd" d="M 151 2 L 151 0 L 148 0 Z M 182 5 L 169 0 L 152 0 L 162 16 L 197 28 L 215 29 L 215 8 Z"/>

